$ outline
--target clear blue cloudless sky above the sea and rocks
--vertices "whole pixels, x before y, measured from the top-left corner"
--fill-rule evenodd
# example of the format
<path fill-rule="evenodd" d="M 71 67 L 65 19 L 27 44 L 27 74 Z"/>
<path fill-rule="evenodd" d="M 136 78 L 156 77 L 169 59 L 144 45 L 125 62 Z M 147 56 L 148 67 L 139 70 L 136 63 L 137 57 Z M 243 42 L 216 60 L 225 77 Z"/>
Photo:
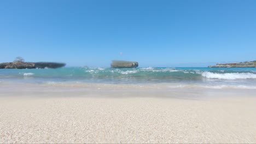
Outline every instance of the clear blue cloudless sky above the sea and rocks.
<path fill-rule="evenodd" d="M 203 67 L 256 60 L 256 1 L 0 1 L 0 62 Z M 120 52 L 123 54 L 121 55 Z"/>

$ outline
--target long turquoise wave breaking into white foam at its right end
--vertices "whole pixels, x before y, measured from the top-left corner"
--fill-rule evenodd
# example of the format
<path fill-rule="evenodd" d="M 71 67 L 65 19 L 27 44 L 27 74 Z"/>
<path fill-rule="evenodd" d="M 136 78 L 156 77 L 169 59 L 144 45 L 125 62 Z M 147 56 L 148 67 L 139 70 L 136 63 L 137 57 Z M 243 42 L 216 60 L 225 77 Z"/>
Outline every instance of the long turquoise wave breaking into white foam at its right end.
<path fill-rule="evenodd" d="M 81 72 L 81 71 L 80 71 Z M 237 79 L 256 79 L 255 71 L 245 70 L 212 70 L 212 69 L 176 69 L 176 68 L 88 68 L 84 69 L 85 77 L 130 77 L 139 79 L 165 79 L 165 80 L 200 80 L 203 77 L 207 79 L 219 80 L 237 80 Z M 73 74 L 74 76 L 76 74 Z"/>

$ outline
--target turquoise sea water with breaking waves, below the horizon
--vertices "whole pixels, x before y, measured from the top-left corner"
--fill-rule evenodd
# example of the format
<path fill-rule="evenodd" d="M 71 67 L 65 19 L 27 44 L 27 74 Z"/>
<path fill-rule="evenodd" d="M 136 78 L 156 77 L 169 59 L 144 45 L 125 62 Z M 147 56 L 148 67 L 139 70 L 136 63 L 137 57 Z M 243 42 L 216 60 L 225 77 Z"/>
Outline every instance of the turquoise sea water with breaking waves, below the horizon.
<path fill-rule="evenodd" d="M 0 69 L 0 82 L 200 85 L 256 89 L 256 68 Z M 56 84 L 57 85 L 57 84 Z"/>

